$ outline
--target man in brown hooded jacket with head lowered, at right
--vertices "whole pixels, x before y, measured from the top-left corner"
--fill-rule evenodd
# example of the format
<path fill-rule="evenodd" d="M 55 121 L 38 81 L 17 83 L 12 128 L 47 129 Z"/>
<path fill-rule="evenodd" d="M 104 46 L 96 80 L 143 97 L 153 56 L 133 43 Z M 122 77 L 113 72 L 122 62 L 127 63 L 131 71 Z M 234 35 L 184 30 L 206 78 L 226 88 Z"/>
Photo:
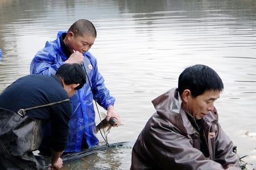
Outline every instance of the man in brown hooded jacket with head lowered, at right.
<path fill-rule="evenodd" d="M 223 88 L 210 67 L 185 69 L 178 88 L 152 101 L 156 113 L 135 142 L 131 169 L 240 169 L 214 107 Z"/>

